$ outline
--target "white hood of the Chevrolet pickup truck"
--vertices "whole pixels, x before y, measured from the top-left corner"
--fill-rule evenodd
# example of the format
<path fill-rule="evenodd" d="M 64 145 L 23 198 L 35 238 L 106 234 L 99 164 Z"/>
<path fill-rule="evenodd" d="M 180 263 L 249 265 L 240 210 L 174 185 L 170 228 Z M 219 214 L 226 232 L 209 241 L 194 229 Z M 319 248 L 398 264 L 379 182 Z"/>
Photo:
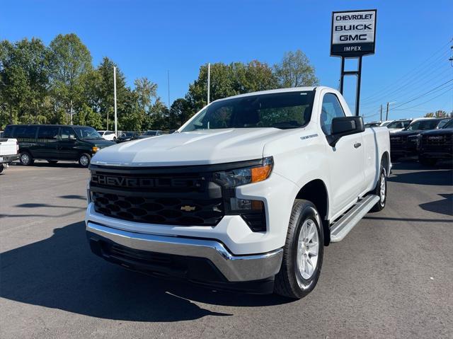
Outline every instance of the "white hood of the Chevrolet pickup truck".
<path fill-rule="evenodd" d="M 184 166 L 260 159 L 277 128 L 199 130 L 137 139 L 98 151 L 101 166 Z"/>

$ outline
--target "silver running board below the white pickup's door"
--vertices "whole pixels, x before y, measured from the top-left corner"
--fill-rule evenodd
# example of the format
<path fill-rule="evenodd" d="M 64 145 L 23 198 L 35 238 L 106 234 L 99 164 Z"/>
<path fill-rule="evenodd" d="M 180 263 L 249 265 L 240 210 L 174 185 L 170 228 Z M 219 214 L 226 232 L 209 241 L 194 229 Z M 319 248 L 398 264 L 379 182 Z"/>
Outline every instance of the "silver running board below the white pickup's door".
<path fill-rule="evenodd" d="M 334 222 L 331 226 L 331 243 L 342 241 L 378 201 L 379 197 L 377 195 L 367 195 L 357 202 L 343 217 L 338 219 L 337 222 Z"/>

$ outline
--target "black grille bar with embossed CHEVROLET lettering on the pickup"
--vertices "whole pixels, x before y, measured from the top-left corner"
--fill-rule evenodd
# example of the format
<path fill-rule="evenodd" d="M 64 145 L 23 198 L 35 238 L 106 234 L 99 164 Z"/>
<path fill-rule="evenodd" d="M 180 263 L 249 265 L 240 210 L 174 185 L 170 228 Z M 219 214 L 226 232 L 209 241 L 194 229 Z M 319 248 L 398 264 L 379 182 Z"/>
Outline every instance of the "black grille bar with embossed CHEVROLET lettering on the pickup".
<path fill-rule="evenodd" d="M 123 188 L 200 188 L 201 179 L 194 178 L 128 178 L 93 174 L 91 182 Z"/>

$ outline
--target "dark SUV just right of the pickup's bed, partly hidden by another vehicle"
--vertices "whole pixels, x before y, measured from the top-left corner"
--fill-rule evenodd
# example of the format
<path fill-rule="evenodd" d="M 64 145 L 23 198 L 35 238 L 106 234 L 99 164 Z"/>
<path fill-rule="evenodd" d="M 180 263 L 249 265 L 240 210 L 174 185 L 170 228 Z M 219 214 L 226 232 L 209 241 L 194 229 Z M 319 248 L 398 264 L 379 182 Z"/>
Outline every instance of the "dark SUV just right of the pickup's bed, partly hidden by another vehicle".
<path fill-rule="evenodd" d="M 442 120 L 436 118 L 414 119 L 411 125 L 400 132 L 390 135 L 391 159 L 397 160 L 403 156 L 417 155 L 418 134 L 425 130 L 435 130 L 439 125 L 444 125 Z"/>

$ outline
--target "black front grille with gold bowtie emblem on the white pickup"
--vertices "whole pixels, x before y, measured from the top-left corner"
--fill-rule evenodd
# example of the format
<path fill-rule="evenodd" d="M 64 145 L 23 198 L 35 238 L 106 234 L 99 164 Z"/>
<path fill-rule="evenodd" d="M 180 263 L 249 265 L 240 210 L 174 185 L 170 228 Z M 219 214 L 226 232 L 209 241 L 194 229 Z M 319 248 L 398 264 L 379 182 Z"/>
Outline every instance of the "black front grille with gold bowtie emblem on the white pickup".
<path fill-rule="evenodd" d="M 215 226 L 224 216 L 222 189 L 210 173 L 91 171 L 96 212 L 130 222 Z"/>

